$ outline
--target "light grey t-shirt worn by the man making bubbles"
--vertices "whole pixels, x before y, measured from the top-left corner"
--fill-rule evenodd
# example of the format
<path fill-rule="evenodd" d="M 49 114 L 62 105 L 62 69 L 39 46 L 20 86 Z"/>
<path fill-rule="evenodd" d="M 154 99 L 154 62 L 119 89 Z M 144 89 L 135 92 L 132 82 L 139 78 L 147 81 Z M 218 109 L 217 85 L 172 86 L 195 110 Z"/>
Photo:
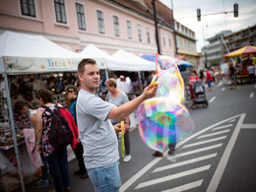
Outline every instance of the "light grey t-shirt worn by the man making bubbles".
<path fill-rule="evenodd" d="M 77 99 L 79 138 L 87 168 L 96 168 L 119 160 L 118 141 L 110 120 L 105 120 L 114 105 L 81 90 Z"/>

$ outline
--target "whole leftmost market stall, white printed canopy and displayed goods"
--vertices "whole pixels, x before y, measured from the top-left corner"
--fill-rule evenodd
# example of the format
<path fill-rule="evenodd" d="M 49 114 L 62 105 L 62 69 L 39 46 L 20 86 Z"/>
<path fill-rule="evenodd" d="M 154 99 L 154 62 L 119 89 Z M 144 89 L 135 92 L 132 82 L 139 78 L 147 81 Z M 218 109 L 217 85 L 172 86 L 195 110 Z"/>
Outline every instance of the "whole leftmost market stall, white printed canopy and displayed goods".
<path fill-rule="evenodd" d="M 24 183 L 37 178 L 38 171 L 28 156 L 24 137 L 17 131 L 13 104 L 19 99 L 38 103 L 35 91 L 53 85 L 52 77 L 60 79 L 65 72 L 70 75 L 77 71 L 81 58 L 41 35 L 18 32 L 0 35 L 0 57 L 0 183 L 5 191 L 20 186 L 25 191 Z M 55 94 L 61 91 L 61 83 L 56 83 L 50 88 Z"/>

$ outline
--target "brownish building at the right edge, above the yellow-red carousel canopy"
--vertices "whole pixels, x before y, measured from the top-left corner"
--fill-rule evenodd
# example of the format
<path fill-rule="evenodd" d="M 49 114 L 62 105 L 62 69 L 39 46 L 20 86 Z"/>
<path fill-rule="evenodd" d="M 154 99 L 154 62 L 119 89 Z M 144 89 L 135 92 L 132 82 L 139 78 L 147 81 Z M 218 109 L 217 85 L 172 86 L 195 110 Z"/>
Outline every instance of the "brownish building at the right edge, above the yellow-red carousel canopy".
<path fill-rule="evenodd" d="M 248 27 L 239 32 L 232 32 L 224 36 L 224 42 L 229 52 L 237 50 L 246 45 L 256 46 L 256 25 Z M 224 49 L 224 54 L 227 50 Z"/>

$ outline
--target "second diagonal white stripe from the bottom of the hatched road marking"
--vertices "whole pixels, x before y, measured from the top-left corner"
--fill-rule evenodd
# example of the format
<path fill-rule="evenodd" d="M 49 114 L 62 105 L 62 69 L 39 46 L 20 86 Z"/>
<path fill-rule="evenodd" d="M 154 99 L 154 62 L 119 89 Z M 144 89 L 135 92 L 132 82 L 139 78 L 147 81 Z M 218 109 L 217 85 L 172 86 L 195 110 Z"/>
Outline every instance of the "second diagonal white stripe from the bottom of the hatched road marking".
<path fill-rule="evenodd" d="M 187 175 L 190 175 L 190 174 L 202 172 L 202 171 L 208 170 L 210 167 L 211 167 L 211 164 L 208 164 L 208 165 L 205 165 L 205 166 L 200 166 L 198 168 L 193 168 L 193 169 L 190 169 L 190 170 L 185 170 L 183 172 L 178 172 L 176 174 L 163 176 L 163 177 L 160 177 L 160 178 L 157 178 L 157 179 L 142 182 L 137 187 L 135 187 L 135 189 L 148 187 L 148 186 L 151 186 L 151 185 L 159 184 L 161 182 L 166 182 L 166 181 L 169 181 L 169 180 L 172 180 L 172 179 L 176 179 L 176 178 L 180 178 L 180 177 L 187 176 Z"/>

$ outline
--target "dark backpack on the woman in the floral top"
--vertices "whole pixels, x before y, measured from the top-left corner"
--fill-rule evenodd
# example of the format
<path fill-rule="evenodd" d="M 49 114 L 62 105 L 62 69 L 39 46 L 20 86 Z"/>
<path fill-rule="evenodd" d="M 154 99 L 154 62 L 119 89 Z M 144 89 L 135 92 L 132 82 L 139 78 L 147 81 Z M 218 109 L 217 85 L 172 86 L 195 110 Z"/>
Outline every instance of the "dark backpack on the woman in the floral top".
<path fill-rule="evenodd" d="M 71 131 L 67 120 L 60 114 L 59 107 L 55 105 L 56 109 L 54 111 L 47 106 L 43 106 L 43 108 L 50 113 L 50 115 L 47 115 L 44 111 L 43 115 L 47 118 L 51 118 L 50 130 L 47 134 L 49 144 L 53 148 L 71 144 L 73 140 L 73 132 Z"/>

